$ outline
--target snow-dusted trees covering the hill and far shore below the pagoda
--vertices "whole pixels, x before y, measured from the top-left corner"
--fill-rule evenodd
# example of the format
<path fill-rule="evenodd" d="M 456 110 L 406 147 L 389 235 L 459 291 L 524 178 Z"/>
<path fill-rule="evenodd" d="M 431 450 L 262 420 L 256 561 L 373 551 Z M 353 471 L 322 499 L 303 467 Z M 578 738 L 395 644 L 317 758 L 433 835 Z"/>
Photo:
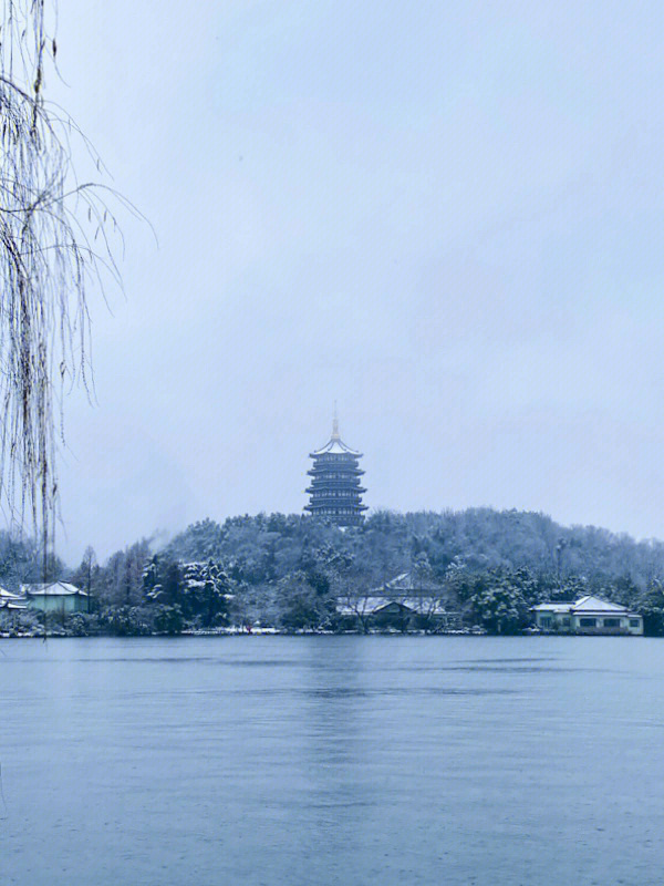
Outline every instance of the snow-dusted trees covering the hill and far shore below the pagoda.
<path fill-rule="evenodd" d="M 0 584 L 14 589 L 35 569 L 33 546 L 0 534 Z M 90 594 L 91 612 L 70 616 L 68 632 L 342 630 L 338 599 L 409 571 L 465 625 L 490 632 L 523 629 L 542 600 L 595 594 L 643 612 L 646 632 L 664 633 L 664 543 L 530 512 L 382 511 L 346 529 L 284 514 L 205 519 L 159 550 L 143 539 L 101 565 L 89 548 L 76 569 L 56 558 L 49 569 L 49 579 Z"/>

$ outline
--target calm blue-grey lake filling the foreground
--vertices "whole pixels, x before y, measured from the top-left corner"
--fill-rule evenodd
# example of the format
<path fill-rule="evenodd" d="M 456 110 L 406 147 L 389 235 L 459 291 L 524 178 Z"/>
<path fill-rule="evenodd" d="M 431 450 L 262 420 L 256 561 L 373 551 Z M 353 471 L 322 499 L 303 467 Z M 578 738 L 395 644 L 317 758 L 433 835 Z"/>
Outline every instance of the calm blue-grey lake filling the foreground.
<path fill-rule="evenodd" d="M 0 641 L 0 883 L 660 884 L 664 641 Z"/>

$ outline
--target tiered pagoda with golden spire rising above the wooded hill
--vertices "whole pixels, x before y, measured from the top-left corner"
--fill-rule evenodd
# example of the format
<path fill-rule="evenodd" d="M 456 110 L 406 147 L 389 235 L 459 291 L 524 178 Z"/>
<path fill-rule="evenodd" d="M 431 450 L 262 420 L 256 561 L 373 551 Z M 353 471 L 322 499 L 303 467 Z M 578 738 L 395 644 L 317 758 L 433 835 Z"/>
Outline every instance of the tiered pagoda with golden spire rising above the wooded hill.
<path fill-rule="evenodd" d="M 364 473 L 359 463 L 362 453 L 346 446 L 339 435 L 336 411 L 332 436 L 309 457 L 313 459 L 313 465 L 307 473 L 312 480 L 307 490 L 310 501 L 304 511 L 338 526 L 359 526 L 366 511 L 366 505 L 362 504 L 362 493 L 366 490 L 360 485 L 360 477 Z"/>

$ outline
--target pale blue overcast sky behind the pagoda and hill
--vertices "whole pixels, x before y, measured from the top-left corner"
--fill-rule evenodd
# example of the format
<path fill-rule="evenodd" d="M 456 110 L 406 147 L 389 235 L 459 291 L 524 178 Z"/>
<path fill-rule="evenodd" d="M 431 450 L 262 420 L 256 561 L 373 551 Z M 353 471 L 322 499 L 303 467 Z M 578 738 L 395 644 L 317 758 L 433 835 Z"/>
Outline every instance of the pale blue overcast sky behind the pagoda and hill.
<path fill-rule="evenodd" d="M 61 0 L 50 97 L 154 225 L 66 403 L 76 562 L 366 503 L 664 537 L 664 4 Z"/>

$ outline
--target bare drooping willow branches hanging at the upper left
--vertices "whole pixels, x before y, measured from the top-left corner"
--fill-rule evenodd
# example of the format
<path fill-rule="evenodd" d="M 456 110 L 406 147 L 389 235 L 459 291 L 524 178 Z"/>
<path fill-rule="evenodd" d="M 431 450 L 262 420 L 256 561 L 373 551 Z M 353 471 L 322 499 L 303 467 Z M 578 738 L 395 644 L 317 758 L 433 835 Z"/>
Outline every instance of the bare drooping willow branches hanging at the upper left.
<path fill-rule="evenodd" d="M 0 14 L 0 506 L 20 525 L 30 515 L 45 558 L 62 394 L 76 381 L 90 390 L 87 290 L 118 281 L 117 226 L 107 192 L 76 181 L 74 142 L 101 173 L 98 158 L 44 100 L 56 56 L 44 0 L 4 0 Z"/>

